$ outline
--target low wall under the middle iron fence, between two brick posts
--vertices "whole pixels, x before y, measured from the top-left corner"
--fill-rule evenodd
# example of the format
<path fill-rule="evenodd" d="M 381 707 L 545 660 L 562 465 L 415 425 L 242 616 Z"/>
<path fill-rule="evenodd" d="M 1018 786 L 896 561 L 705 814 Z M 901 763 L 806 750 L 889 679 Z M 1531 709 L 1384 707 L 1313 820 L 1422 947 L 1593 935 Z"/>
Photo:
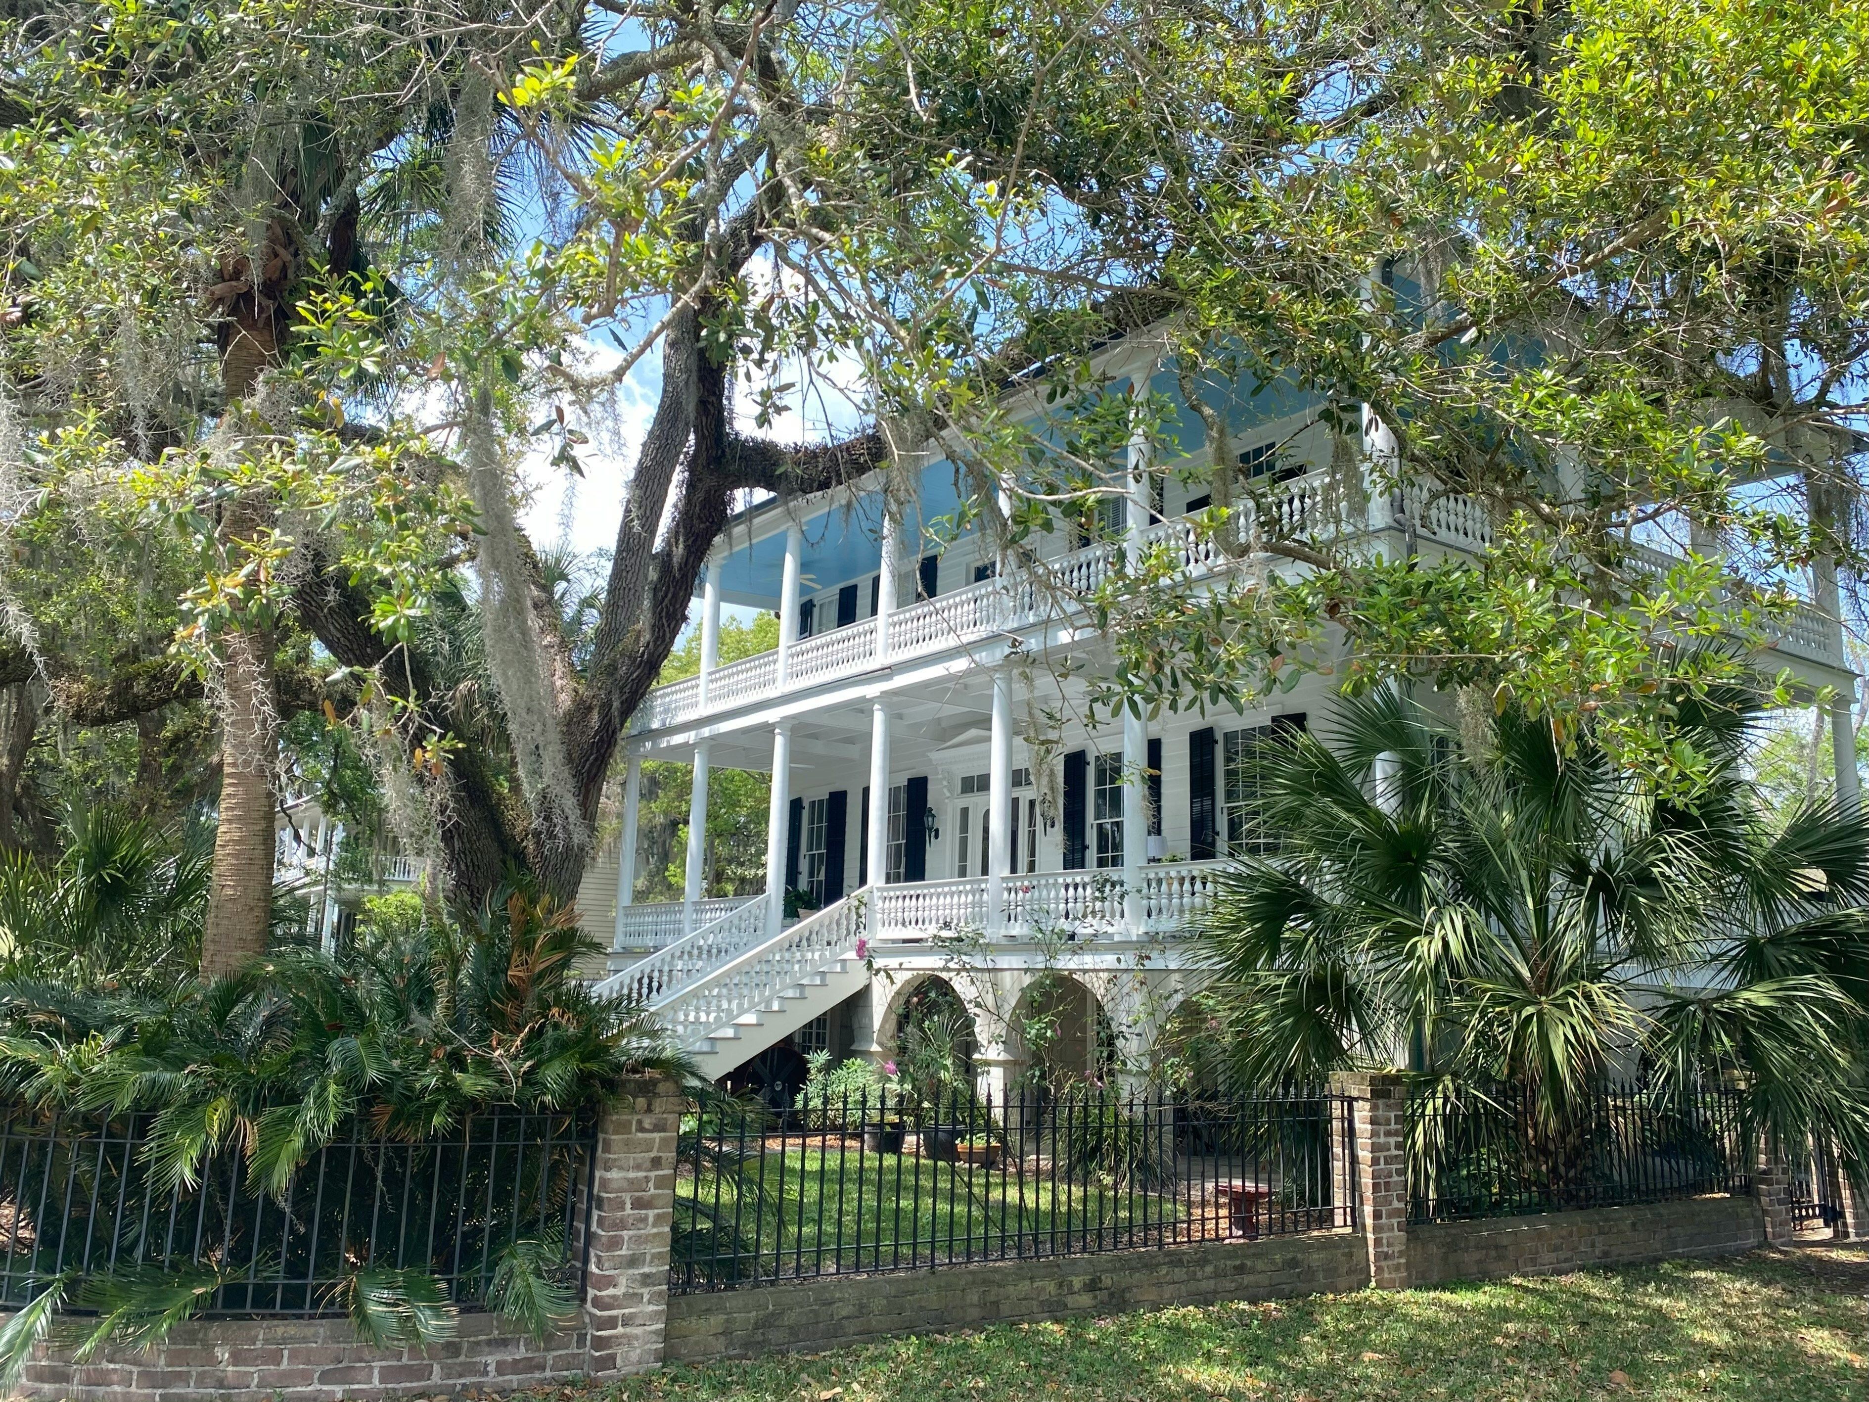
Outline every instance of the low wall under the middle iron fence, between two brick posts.
<path fill-rule="evenodd" d="M 1280 1299 L 1370 1282 L 1359 1232 L 1209 1241 L 933 1271 L 845 1275 L 669 1299 L 669 1363 L 822 1350 L 910 1331 Z"/>

